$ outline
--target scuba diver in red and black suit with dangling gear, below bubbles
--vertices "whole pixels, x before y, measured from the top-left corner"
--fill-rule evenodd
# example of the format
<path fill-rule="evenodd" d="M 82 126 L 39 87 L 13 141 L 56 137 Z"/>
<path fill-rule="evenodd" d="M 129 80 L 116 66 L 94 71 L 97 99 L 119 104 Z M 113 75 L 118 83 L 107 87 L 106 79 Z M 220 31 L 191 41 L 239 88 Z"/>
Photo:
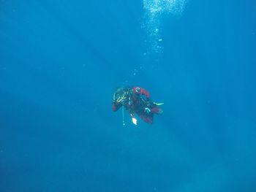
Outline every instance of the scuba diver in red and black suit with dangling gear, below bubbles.
<path fill-rule="evenodd" d="M 158 106 L 163 103 L 155 103 L 150 99 L 150 93 L 140 87 L 118 87 L 113 94 L 112 110 L 116 112 L 124 106 L 132 116 L 132 123 L 137 125 L 137 114 L 146 123 L 153 123 L 154 114 L 162 114 Z M 124 124 L 124 113 L 123 113 Z"/>

